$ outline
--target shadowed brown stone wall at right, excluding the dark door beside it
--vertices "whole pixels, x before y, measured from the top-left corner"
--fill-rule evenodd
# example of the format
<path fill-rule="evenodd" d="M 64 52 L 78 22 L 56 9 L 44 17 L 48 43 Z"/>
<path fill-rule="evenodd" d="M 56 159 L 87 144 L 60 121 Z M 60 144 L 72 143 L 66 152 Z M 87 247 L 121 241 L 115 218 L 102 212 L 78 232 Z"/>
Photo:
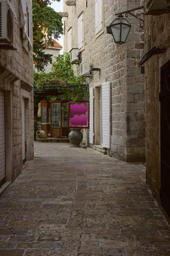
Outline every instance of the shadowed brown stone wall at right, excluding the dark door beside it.
<path fill-rule="evenodd" d="M 145 52 L 148 42 L 151 47 L 163 45 L 167 50 L 153 56 L 145 63 L 146 97 L 146 165 L 147 184 L 160 203 L 160 72 L 161 67 L 170 60 L 170 14 L 144 17 Z"/>

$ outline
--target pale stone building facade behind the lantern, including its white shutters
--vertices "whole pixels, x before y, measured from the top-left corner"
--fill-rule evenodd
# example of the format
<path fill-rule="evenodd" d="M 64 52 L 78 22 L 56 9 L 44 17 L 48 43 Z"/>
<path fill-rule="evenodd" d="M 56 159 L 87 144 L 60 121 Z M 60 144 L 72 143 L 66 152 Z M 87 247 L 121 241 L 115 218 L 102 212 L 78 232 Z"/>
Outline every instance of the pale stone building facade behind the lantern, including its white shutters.
<path fill-rule="evenodd" d="M 74 5 L 68 6 L 71 2 Z M 127 42 L 118 45 L 106 27 L 116 18 L 114 14 L 142 5 L 142 0 L 91 0 L 87 5 L 84 0 L 64 0 L 63 10 L 68 13 L 64 17 L 64 52 L 79 48 L 81 62 L 89 61 L 101 69 L 87 79 L 94 111 L 86 143 L 127 162 L 145 160 L 144 75 L 138 67 L 144 54 L 144 30 L 139 20 L 129 16 L 132 27 Z M 107 98 L 102 95 L 105 88 Z"/>

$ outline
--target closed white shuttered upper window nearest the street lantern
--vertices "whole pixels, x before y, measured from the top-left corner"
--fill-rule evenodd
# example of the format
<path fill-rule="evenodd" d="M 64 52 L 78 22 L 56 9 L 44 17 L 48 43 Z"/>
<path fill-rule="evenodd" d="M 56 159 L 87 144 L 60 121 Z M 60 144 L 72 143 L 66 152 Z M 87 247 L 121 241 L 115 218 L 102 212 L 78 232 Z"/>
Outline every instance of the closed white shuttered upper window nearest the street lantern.
<path fill-rule="evenodd" d="M 103 0 L 95 0 L 95 32 L 103 29 Z"/>

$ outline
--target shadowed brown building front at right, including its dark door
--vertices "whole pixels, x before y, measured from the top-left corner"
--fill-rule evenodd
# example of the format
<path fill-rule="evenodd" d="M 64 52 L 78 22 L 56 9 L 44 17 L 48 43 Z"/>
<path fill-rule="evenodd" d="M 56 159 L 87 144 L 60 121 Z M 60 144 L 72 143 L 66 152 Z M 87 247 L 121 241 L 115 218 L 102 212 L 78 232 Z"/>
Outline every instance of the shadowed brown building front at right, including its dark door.
<path fill-rule="evenodd" d="M 159 3 L 161 9 L 162 1 Z M 166 48 L 164 53 L 152 56 L 145 63 L 147 184 L 165 215 L 170 217 L 169 31 L 170 14 L 144 17 L 145 52 L 155 46 Z"/>

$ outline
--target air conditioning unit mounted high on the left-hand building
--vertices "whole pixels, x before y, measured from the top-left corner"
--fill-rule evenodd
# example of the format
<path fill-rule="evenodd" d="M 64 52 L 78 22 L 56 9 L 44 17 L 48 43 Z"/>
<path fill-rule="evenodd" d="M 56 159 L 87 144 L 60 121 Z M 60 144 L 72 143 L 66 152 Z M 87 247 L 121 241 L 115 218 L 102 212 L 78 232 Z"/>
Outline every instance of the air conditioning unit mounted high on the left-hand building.
<path fill-rule="evenodd" d="M 14 13 L 8 0 L 0 1 L 0 49 L 13 49 Z"/>

